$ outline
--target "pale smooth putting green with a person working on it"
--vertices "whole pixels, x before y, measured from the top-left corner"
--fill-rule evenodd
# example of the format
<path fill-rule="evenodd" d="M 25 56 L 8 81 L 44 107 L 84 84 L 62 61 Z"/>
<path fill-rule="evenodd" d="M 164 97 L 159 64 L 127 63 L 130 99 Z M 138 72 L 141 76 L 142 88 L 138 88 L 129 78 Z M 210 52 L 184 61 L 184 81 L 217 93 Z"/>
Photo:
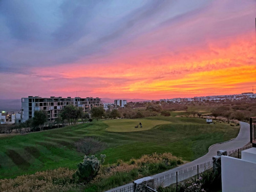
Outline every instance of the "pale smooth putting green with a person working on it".
<path fill-rule="evenodd" d="M 140 122 L 142 127 L 138 125 Z M 170 123 L 170 121 L 151 119 L 112 119 L 104 121 L 104 123 L 108 125 L 106 131 L 109 132 L 137 132 L 150 130 L 156 125 L 167 124 Z M 135 128 L 136 125 L 138 125 L 138 128 Z"/>

